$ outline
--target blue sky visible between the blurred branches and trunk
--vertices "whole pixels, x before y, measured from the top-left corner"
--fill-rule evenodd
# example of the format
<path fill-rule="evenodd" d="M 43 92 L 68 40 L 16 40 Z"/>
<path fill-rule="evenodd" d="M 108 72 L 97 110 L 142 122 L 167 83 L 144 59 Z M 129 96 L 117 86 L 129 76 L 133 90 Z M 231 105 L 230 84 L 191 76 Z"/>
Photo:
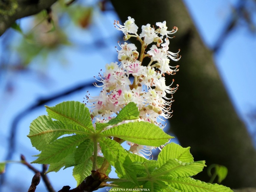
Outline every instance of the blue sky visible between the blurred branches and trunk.
<path fill-rule="evenodd" d="M 185 0 L 198 31 L 205 44 L 209 47 L 214 45 L 219 35 L 223 32 L 226 21 L 231 14 L 231 6 L 236 5 L 236 2 L 235 0 Z M 254 21 L 256 20 L 255 18 L 256 15 L 254 15 Z M 47 76 L 44 82 L 32 72 L 8 72 L 0 77 L 0 98 L 2 101 L 0 102 L 0 139 L 2 141 L 0 145 L 0 153 L 2 154 L 0 160 L 4 160 L 6 155 L 9 128 L 15 115 L 23 111 L 28 105 L 34 103 L 39 97 L 58 93 L 64 88 L 72 87 L 81 82 L 94 81 L 93 76 L 97 76 L 100 69 L 104 69 L 106 63 L 117 60 L 115 46 L 117 46 L 117 41 L 122 41 L 122 39 L 119 39 L 120 32 L 113 27 L 114 19 L 118 19 L 115 13 L 105 12 L 102 14 L 96 10 L 93 16 L 93 25 L 87 30 L 73 30 L 74 26 L 68 26 L 66 30 L 72 33 L 71 41 L 74 41 L 78 46 L 62 47 L 58 54 L 52 53 L 49 55 L 45 65 L 41 65 L 39 69 L 42 74 Z M 30 18 L 21 20 L 21 26 L 24 30 L 29 21 L 31 21 Z M 254 133 L 255 127 L 249 124 L 247 115 L 251 110 L 256 108 L 256 92 L 254 90 L 256 82 L 256 35 L 249 32 L 242 20 L 239 24 L 239 27 L 236 27 L 226 38 L 221 50 L 214 57 L 217 68 L 238 114 L 249 125 L 250 133 Z M 172 26 L 169 27 L 172 28 Z M 96 32 L 99 33 L 97 37 L 93 36 Z M 177 36 L 178 33 L 175 35 Z M 15 35 L 16 41 L 20 38 L 22 38 L 21 35 Z M 95 43 L 95 39 L 102 40 L 107 46 L 99 47 Z M 0 51 L 3 51 L 1 47 Z M 12 58 L 10 59 L 12 60 Z M 38 62 L 42 61 L 35 59 L 30 68 L 32 70 L 38 70 Z M 15 80 L 15 90 L 13 94 L 8 95 L 3 92 L 3 88 L 7 79 L 11 78 Z M 53 106 L 66 100 L 82 102 L 86 91 L 80 91 L 63 97 L 47 105 Z M 94 88 L 90 90 L 90 93 L 96 95 L 98 92 Z M 33 111 L 19 123 L 16 152 L 14 153 L 13 160 L 19 160 L 20 154 L 24 154 L 28 161 L 35 159 L 32 155 L 38 154 L 38 151 L 32 148 L 30 140 L 26 135 L 29 133 L 29 124 L 32 120 L 42 114 L 46 114 L 44 107 Z M 40 165 L 35 166 L 41 169 Z M 5 174 L 8 177 L 8 182 L 17 180 L 17 186 L 20 184 L 21 186 L 25 186 L 25 188 L 29 187 L 33 176 L 31 171 L 20 164 L 12 164 Z M 26 176 L 24 177 L 23 175 Z M 72 187 L 76 185 L 72 177 L 72 168 L 58 173 L 49 173 L 49 177 L 54 183 L 56 190 L 61 189 L 64 185 L 70 185 Z M 10 185 L 10 183 L 7 185 Z M 2 188 L 2 191 L 10 191 L 10 186 Z M 18 190 L 15 189 L 13 191 Z M 36 191 L 45 191 L 42 181 Z"/>

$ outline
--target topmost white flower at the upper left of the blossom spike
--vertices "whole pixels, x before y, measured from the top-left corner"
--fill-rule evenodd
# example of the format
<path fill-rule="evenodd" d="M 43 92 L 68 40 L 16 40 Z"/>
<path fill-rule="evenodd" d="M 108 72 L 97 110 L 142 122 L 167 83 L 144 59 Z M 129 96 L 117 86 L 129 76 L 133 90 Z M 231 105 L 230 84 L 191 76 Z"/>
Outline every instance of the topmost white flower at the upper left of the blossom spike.
<path fill-rule="evenodd" d="M 128 20 L 126 20 L 123 25 L 121 25 L 119 21 L 115 21 L 114 25 L 116 29 L 122 31 L 124 35 L 126 35 L 126 33 L 136 34 L 138 31 L 138 26 L 134 23 L 134 19 L 131 17 L 128 17 Z"/>

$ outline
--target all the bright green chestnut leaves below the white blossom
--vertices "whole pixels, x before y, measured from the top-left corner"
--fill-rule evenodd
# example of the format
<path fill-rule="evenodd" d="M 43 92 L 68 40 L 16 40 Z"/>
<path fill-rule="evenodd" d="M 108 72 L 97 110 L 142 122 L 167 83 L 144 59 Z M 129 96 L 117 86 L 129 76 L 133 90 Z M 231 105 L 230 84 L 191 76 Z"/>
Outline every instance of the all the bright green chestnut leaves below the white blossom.
<path fill-rule="evenodd" d="M 92 170 L 100 168 L 108 175 L 114 166 L 120 179 L 109 178 L 107 181 L 114 181 L 110 185 L 119 188 L 142 187 L 155 192 L 232 191 L 222 185 L 190 178 L 206 166 L 204 161 L 194 162 L 190 148 L 167 144 L 157 161 L 125 150 L 120 145 L 124 140 L 160 146 L 172 138 L 149 122 L 136 121 L 115 126 L 124 120 L 139 118 L 135 103 L 126 105 L 108 123 L 96 123 L 95 128 L 88 108 L 80 102 L 62 102 L 46 108 L 48 116 L 40 116 L 31 123 L 28 137 L 32 145 L 41 151 L 32 163 L 50 164 L 48 172 L 74 166 L 73 176 L 80 184 Z M 104 157 L 97 157 L 98 143 Z"/>

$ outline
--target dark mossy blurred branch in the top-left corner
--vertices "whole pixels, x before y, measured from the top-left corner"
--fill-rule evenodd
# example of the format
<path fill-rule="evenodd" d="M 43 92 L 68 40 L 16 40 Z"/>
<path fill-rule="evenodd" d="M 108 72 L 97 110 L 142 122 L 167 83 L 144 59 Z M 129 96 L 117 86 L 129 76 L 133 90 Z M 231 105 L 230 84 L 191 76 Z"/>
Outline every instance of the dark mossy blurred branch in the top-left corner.
<path fill-rule="evenodd" d="M 9 0 L 0 7 L 0 36 L 20 18 L 39 13 L 50 8 L 57 0 Z M 5 10 L 2 9 L 4 6 Z"/>

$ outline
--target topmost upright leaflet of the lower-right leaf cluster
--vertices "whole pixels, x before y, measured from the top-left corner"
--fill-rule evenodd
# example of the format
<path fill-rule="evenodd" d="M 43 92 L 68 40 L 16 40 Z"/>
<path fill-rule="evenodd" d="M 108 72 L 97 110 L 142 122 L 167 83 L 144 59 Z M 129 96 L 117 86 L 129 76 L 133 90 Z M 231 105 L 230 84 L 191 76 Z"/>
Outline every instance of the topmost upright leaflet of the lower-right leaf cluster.
<path fill-rule="evenodd" d="M 158 155 L 159 166 L 165 164 L 169 159 L 177 159 L 184 163 L 194 162 L 189 149 L 190 147 L 183 148 L 176 143 L 167 144 Z"/>

